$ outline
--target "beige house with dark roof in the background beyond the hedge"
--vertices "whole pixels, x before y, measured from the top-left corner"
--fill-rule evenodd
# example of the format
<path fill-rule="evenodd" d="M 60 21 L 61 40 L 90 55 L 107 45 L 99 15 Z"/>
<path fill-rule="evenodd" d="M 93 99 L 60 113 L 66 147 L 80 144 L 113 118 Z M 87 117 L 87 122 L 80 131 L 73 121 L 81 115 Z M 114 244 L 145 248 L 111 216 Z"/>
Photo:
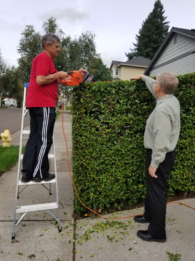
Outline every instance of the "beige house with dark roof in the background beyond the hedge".
<path fill-rule="evenodd" d="M 131 77 L 144 74 L 151 60 L 138 56 L 126 62 L 112 61 L 110 70 L 114 81 L 129 80 Z"/>

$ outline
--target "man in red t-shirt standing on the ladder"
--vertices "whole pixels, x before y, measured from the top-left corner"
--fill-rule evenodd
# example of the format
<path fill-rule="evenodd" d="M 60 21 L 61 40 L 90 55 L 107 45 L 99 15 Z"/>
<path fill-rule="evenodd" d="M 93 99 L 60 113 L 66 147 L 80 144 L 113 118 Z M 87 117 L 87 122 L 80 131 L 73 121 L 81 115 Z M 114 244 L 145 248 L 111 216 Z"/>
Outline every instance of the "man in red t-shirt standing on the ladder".
<path fill-rule="evenodd" d="M 49 181 L 55 178 L 54 174 L 49 173 L 48 153 L 53 142 L 57 87 L 58 83 L 62 84 L 59 78 L 69 79 L 66 72 L 58 72 L 53 64 L 53 59 L 60 52 L 59 42 L 57 35 L 44 35 L 41 42 L 43 52 L 38 54 L 32 63 L 26 99 L 26 108 L 30 114 L 30 135 L 23 156 L 23 182 Z M 86 75 L 83 69 L 80 69 L 79 73 L 82 77 Z"/>

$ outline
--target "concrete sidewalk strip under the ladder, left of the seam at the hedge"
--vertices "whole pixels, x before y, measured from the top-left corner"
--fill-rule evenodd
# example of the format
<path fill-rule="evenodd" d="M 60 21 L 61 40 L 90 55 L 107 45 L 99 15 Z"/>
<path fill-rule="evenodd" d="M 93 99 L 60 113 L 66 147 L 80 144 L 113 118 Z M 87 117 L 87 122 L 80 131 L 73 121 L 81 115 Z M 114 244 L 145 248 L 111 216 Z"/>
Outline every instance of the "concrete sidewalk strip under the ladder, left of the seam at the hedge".
<path fill-rule="evenodd" d="M 71 124 L 72 115 L 65 112 L 64 131 L 68 143 L 70 171 L 72 171 Z M 29 126 L 26 128 L 28 127 Z M 48 211 L 29 212 L 25 216 L 24 220 L 16 227 L 15 239 L 18 240 L 18 242 L 11 243 L 18 168 L 18 164 L 16 164 L 12 168 L 12 171 L 8 171 L 0 177 L 0 261 L 27 259 L 27 256 L 32 254 L 35 254 L 36 259 L 41 261 L 55 261 L 58 259 L 64 261 L 73 259 L 72 240 L 74 231 L 73 222 L 71 222 L 71 220 L 73 220 L 72 213 L 74 210 L 73 186 L 67 167 L 66 143 L 62 131 L 62 114 L 58 116 L 58 119 L 55 122 L 54 137 L 58 195 L 60 200 L 60 217 L 61 226 L 64 229 L 61 233 L 58 233 L 58 229 L 54 227 L 55 221 L 52 219 L 52 216 L 48 213 Z M 12 144 L 19 145 L 19 143 L 20 131 L 12 135 Z M 53 164 L 51 165 L 53 170 Z M 49 191 L 40 185 L 28 186 L 20 194 L 17 202 L 18 205 L 55 202 L 54 184 L 52 184 L 52 195 L 49 195 Z M 17 214 L 16 219 L 19 216 L 20 215 Z M 43 228 L 47 229 L 47 231 L 44 231 Z M 19 255 L 16 252 L 22 253 L 23 255 Z"/>

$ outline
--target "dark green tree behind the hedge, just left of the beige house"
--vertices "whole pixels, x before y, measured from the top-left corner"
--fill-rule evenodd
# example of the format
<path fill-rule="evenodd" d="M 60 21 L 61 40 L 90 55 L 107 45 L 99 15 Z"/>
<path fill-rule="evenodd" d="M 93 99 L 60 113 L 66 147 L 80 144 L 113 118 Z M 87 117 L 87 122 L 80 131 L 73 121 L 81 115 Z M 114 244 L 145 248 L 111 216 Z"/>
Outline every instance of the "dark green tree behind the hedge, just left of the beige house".
<path fill-rule="evenodd" d="M 96 59 L 93 66 L 94 78 L 93 81 L 112 81 L 111 71 L 103 63 L 101 58 Z"/>

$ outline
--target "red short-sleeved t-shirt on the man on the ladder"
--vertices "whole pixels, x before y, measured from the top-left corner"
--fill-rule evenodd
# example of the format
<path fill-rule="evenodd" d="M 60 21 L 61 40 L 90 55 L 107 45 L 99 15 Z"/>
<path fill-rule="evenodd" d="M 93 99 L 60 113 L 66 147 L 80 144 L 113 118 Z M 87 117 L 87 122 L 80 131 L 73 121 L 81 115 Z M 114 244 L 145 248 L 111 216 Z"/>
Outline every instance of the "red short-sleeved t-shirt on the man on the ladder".
<path fill-rule="evenodd" d="M 53 60 L 47 53 L 41 52 L 33 59 L 26 108 L 55 107 L 58 98 L 57 79 L 49 84 L 39 85 L 36 82 L 38 75 L 47 76 L 53 73 L 57 73 L 57 70 L 55 70 Z"/>

